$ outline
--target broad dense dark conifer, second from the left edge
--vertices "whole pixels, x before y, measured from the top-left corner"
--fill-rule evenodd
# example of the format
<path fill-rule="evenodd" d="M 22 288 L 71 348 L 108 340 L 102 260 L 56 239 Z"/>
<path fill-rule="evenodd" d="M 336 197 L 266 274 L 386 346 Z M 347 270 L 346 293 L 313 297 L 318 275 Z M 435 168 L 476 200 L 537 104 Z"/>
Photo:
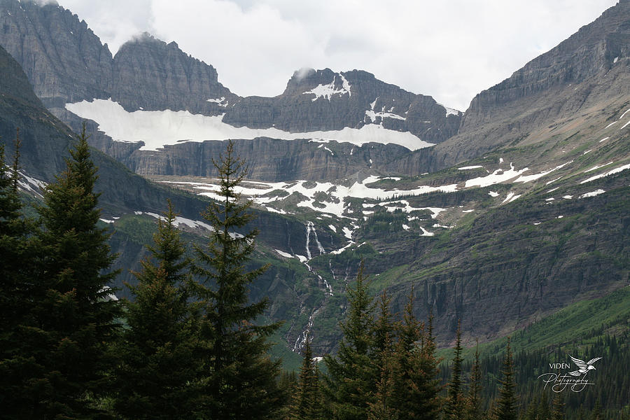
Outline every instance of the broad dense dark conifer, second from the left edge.
<path fill-rule="evenodd" d="M 34 379 L 41 384 L 34 418 L 99 415 L 93 402 L 104 388 L 111 367 L 106 349 L 119 326 L 120 307 L 108 298 L 112 290 L 107 287 L 117 273 L 104 273 L 116 256 L 106 229 L 97 227 L 97 168 L 85 125 L 70 154 L 38 208 L 43 228 L 36 238 L 41 258 L 32 316 L 40 335 L 33 357 L 42 375 Z"/>

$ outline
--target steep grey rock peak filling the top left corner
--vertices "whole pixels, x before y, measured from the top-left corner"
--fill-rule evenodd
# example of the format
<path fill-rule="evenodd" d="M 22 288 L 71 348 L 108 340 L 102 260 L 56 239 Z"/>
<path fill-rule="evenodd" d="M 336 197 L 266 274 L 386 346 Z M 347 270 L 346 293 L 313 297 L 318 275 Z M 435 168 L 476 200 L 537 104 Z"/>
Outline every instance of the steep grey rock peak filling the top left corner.
<path fill-rule="evenodd" d="M 0 45 L 20 63 L 48 109 L 108 97 L 109 48 L 85 21 L 57 4 L 0 0 Z"/>

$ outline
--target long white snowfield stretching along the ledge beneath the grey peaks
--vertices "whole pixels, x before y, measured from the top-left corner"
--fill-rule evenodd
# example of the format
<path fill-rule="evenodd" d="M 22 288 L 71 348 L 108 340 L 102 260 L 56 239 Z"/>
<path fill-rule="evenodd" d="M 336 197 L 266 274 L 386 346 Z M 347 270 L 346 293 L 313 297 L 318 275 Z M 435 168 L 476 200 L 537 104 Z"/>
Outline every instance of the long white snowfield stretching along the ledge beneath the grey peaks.
<path fill-rule="evenodd" d="M 337 91 L 338 92 L 338 91 Z M 276 128 L 252 129 L 233 127 L 223 123 L 223 116 L 202 116 L 188 111 L 134 111 L 127 112 L 118 102 L 111 99 L 94 99 L 92 102 L 66 104 L 66 109 L 80 118 L 94 120 L 99 130 L 115 141 L 136 143 L 144 141 L 143 151 L 157 151 L 167 145 L 181 141 L 205 141 L 227 139 L 272 139 L 295 140 L 316 139 L 339 141 L 360 146 L 375 142 L 398 144 L 411 151 L 433 146 L 409 132 L 388 130 L 381 125 L 367 124 L 361 128 L 344 127 L 343 130 L 290 133 Z"/>

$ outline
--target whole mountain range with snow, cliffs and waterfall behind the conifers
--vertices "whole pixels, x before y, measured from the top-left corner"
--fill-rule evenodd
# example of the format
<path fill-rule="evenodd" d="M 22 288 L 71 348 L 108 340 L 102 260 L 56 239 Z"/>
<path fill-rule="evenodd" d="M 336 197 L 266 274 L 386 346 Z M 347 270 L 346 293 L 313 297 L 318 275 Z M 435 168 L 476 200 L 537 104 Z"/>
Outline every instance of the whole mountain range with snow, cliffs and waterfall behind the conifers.
<path fill-rule="evenodd" d="M 155 181 L 127 188 L 132 181 L 116 180 L 139 178 L 122 165 L 105 175 L 106 220 L 126 265 L 168 194 L 181 197 L 187 238 L 202 240 L 201 198 L 182 190 L 216 197 L 211 159 L 235 139 L 251 169 L 239 191 L 260 215 L 256 258 L 272 264 L 253 293 L 287 320 L 289 349 L 311 332 L 324 354 L 335 351 L 344 290 L 362 259 L 371 290 L 386 288 L 394 309 L 413 288 L 441 346 L 458 319 L 465 342 L 488 341 L 628 283 L 629 8 L 610 8 L 463 115 L 357 70 L 302 69 L 277 97 L 237 97 L 176 43 L 143 35 L 108 56 L 54 4 L 0 0 L 0 45 L 51 112 L 75 130 L 92 120 L 94 146 Z M 67 66 L 71 51 L 78 61 Z M 80 60 L 100 59 L 87 78 Z M 25 78 L 7 85 L 25 91 Z M 31 125 L 31 112 L 25 105 L 3 138 Z M 41 105 L 36 113 L 45 130 L 62 127 Z M 58 130 L 65 146 L 42 141 L 29 155 L 60 162 L 69 131 Z"/>

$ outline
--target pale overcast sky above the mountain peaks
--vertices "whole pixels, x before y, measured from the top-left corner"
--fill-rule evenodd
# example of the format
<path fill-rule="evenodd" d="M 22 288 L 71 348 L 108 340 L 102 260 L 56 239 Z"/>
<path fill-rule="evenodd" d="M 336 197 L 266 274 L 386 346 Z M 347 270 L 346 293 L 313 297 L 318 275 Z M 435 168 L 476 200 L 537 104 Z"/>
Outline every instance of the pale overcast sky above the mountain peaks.
<path fill-rule="evenodd" d="M 617 0 L 58 0 L 116 50 L 176 41 L 241 96 L 276 96 L 302 67 L 361 69 L 465 111 L 472 97 Z"/>

